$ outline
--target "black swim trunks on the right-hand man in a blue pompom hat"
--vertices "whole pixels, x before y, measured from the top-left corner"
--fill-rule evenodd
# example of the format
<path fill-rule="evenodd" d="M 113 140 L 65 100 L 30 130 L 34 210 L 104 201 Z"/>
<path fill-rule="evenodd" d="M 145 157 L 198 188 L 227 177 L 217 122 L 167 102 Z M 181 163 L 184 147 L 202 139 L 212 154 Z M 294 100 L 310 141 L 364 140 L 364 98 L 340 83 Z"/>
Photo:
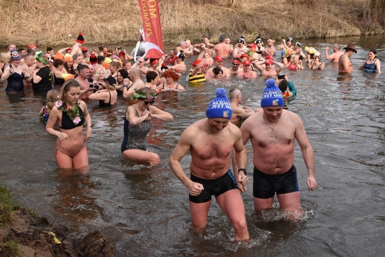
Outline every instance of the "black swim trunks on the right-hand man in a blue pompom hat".
<path fill-rule="evenodd" d="M 287 194 L 299 191 L 297 169 L 294 164 L 283 174 L 267 175 L 254 167 L 253 195 L 256 198 L 268 199 L 274 194 Z"/>

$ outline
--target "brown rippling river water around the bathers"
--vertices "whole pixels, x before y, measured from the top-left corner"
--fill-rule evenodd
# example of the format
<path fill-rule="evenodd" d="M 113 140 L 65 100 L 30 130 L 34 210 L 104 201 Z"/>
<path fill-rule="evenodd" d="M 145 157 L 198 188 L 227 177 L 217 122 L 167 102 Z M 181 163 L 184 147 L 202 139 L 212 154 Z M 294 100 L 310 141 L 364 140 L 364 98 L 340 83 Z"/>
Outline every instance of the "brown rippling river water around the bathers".
<path fill-rule="evenodd" d="M 243 104 L 257 108 L 264 89 L 260 77 L 202 86 L 189 86 L 180 79 L 185 92 L 162 94 L 155 106 L 173 114 L 174 120 L 153 121 L 149 150 L 159 154 L 161 164 L 152 168 L 121 157 L 123 116 L 129 102 L 119 98 L 111 109 L 86 102 L 95 124 L 87 142 L 88 175 L 57 169 L 52 156 L 56 138 L 45 133 L 38 118 L 45 95 L 27 88 L 25 93 L 8 96 L 0 85 L 0 181 L 17 201 L 53 223 L 81 232 L 100 229 L 116 245 L 117 256 L 384 256 L 385 79 L 384 74 L 356 69 L 370 48 L 377 49 L 380 60 L 385 59 L 385 39 L 337 38 L 308 45 L 322 48 L 325 61 L 323 47 L 329 46 L 330 53 L 335 42 L 356 45 L 351 76 L 338 75 L 329 62 L 324 71 L 284 71 L 298 92 L 287 108 L 302 118 L 315 151 L 318 188 L 307 191 L 306 166 L 295 145 L 306 213 L 301 222 L 283 220 L 277 208 L 256 216 L 249 175 L 243 199 L 250 241 L 232 240 L 232 228 L 215 200 L 206 232 L 196 234 L 191 228 L 188 192 L 167 164 L 182 131 L 205 117 L 215 88 L 240 87 Z M 225 66 L 230 66 L 229 60 Z M 382 66 L 385 70 L 384 62 Z M 246 148 L 251 174 L 251 144 Z M 189 155 L 181 161 L 186 173 L 189 161 Z"/>

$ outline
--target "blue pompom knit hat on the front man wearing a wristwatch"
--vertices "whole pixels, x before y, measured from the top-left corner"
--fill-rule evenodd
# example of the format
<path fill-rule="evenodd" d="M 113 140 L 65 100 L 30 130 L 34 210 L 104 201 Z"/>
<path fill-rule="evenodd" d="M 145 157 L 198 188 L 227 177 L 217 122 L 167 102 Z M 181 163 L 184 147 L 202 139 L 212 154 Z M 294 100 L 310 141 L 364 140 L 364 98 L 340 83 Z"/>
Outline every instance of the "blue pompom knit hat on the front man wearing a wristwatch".
<path fill-rule="evenodd" d="M 226 118 L 230 119 L 233 111 L 231 104 L 226 97 L 226 89 L 223 87 L 215 90 L 216 98 L 214 98 L 206 110 L 206 117 L 208 118 Z"/>

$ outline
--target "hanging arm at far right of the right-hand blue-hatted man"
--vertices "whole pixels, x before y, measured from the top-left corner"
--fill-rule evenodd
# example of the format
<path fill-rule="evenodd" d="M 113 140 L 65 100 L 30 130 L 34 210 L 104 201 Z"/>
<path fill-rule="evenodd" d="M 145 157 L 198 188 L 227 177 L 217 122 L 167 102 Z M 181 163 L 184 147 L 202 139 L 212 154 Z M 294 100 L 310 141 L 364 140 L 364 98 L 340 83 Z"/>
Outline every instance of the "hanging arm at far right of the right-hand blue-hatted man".
<path fill-rule="evenodd" d="M 309 142 L 308 136 L 306 135 L 304 124 L 297 114 L 293 113 L 292 118 L 295 126 L 295 139 L 298 145 L 301 147 L 302 156 L 306 167 L 308 168 L 308 178 L 306 183 L 308 184 L 308 190 L 314 190 L 317 187 L 315 181 L 315 170 L 314 170 L 314 152 L 313 147 Z"/>

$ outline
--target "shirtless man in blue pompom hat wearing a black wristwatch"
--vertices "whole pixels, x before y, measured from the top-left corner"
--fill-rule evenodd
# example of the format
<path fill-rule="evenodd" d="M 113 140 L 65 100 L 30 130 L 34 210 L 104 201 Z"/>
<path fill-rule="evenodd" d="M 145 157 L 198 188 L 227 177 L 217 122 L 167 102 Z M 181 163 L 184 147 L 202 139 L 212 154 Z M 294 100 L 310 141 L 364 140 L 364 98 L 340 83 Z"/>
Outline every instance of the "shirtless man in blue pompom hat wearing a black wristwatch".
<path fill-rule="evenodd" d="M 206 110 L 207 119 L 201 119 L 180 136 L 171 154 L 169 165 L 175 176 L 187 187 L 190 200 L 191 221 L 195 228 L 207 226 L 211 196 L 225 212 L 234 228 L 234 240 L 248 240 L 245 206 L 240 190 L 248 184 L 245 168 L 230 170 L 230 152 L 235 155 L 240 167 L 247 162 L 246 149 L 242 144 L 241 131 L 229 122 L 232 111 L 224 88 L 216 89 L 217 97 Z M 184 173 L 180 160 L 190 151 L 190 178 Z"/>

